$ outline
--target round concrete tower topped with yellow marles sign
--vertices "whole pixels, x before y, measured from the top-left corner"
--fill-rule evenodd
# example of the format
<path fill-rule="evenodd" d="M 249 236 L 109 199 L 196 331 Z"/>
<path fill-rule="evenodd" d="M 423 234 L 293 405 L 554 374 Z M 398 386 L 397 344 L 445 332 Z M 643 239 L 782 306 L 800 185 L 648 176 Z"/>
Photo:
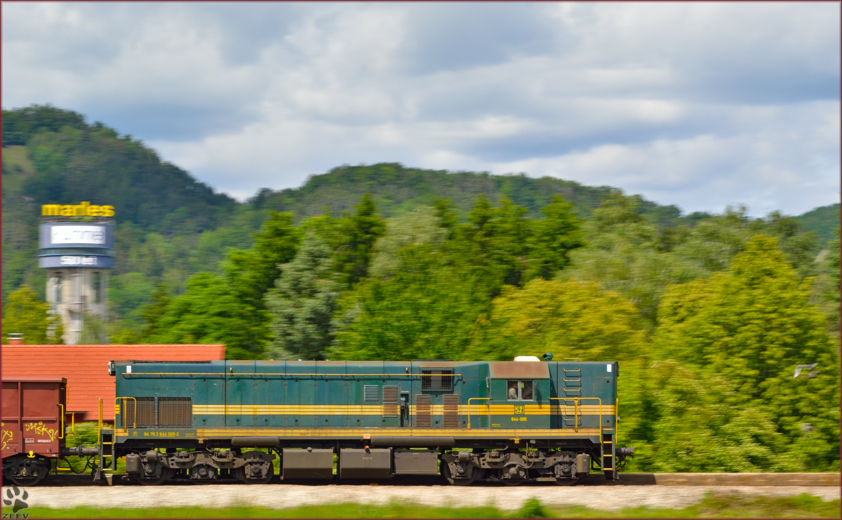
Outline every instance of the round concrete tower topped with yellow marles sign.
<path fill-rule="evenodd" d="M 38 267 L 46 269 L 47 303 L 61 316 L 69 345 L 80 342 L 86 316 L 108 319 L 113 216 L 114 206 L 88 202 L 41 206 Z"/>

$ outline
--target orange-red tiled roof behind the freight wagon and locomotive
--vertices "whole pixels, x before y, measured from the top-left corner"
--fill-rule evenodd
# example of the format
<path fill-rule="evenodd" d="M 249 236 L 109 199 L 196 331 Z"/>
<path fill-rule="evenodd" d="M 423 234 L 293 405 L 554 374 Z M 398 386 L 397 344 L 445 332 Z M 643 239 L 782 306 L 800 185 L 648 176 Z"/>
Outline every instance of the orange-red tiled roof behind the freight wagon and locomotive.
<path fill-rule="evenodd" d="M 99 398 L 103 419 L 114 421 L 114 360 L 215 361 L 225 359 L 225 345 L 3 345 L 0 375 L 4 380 L 21 377 L 67 378 L 67 412 L 76 421 L 95 421 Z"/>

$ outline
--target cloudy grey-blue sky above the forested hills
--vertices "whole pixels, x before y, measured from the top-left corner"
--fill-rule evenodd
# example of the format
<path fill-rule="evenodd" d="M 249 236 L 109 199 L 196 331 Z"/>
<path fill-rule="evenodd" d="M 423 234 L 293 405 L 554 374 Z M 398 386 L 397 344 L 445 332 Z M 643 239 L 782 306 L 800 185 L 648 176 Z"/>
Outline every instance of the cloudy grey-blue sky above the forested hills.
<path fill-rule="evenodd" d="M 839 5 L 7 2 L 2 103 L 241 200 L 401 162 L 798 215 L 839 202 Z"/>

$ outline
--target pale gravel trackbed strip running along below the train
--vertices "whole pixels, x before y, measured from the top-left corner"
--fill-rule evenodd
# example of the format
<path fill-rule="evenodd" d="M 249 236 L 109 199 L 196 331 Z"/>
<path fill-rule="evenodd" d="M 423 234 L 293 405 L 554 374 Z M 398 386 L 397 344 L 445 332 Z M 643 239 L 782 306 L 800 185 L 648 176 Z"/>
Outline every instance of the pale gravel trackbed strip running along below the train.
<path fill-rule="evenodd" d="M 797 496 L 808 493 L 825 501 L 839 499 L 839 474 L 754 474 L 754 484 L 738 482 L 743 475 L 625 474 L 619 482 L 584 486 L 493 484 L 448 486 L 438 477 L 399 477 L 354 484 L 290 483 L 274 480 L 260 486 L 168 484 L 140 486 L 115 478 L 113 486 L 93 482 L 90 475 L 54 475 L 30 487 L 29 507 L 214 507 L 287 509 L 324 504 L 386 505 L 392 501 L 440 507 L 498 507 L 516 511 L 532 496 L 547 507 L 571 505 L 616 511 L 623 507 L 688 507 L 707 493 L 744 496 Z M 624 478 L 625 477 L 625 478 Z M 767 480 L 763 480 L 767 479 Z M 771 480 L 768 480 L 771 479 Z M 709 482 L 719 482 L 711 485 Z M 770 481 L 777 482 L 769 485 Z M 762 483 L 762 484 L 760 484 Z M 96 489 L 92 489 L 92 487 Z M 186 490 L 184 486 L 190 486 Z M 615 486 L 624 486 L 622 490 Z M 587 490 L 584 488 L 587 487 Z"/>

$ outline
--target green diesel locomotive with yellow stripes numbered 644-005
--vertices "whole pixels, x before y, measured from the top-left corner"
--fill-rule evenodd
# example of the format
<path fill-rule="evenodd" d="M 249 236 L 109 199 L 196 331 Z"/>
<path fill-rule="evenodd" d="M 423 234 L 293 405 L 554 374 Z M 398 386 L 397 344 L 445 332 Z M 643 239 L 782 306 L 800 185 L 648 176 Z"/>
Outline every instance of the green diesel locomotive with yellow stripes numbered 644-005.
<path fill-rule="evenodd" d="M 116 361 L 96 478 L 616 480 L 618 364 L 516 359 Z"/>

